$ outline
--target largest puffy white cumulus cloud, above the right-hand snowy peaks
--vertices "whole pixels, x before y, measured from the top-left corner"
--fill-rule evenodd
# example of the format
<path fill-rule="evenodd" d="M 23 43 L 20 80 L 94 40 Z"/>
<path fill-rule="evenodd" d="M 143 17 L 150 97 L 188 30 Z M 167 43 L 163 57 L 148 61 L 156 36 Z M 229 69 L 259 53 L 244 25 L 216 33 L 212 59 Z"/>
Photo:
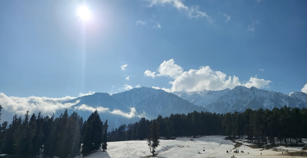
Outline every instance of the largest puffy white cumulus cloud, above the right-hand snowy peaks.
<path fill-rule="evenodd" d="M 175 64 L 173 59 L 164 61 L 157 69 L 159 72 L 155 75 L 154 72 L 146 70 L 145 76 L 153 74 L 154 76 L 168 76 L 173 81 L 169 83 L 172 85 L 171 89 L 163 88 L 164 91 L 202 91 L 202 90 L 223 90 L 226 88 L 233 89 L 236 86 L 245 87 L 269 87 L 270 80 L 258 79 L 251 77 L 247 82 L 240 82 L 237 76 L 227 76 L 221 71 L 214 71 L 209 66 L 201 66 L 199 69 L 190 69 L 183 71 L 183 68 Z M 148 73 L 146 73 L 148 72 Z M 153 76 L 150 76 L 153 77 Z M 153 77 L 154 78 L 154 77 Z M 152 87 L 160 89 L 159 87 Z M 162 89 L 162 88 L 161 88 Z"/>

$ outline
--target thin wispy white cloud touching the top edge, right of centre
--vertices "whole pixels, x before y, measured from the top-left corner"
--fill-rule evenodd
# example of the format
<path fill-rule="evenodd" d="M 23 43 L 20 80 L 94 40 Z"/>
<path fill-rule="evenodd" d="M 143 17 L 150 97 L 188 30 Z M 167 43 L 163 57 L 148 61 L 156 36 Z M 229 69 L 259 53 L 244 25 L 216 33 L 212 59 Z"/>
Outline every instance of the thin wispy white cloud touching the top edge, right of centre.
<path fill-rule="evenodd" d="M 206 17 L 208 22 L 215 22 L 211 16 L 209 16 L 206 12 L 200 11 L 199 6 L 186 6 L 182 0 L 146 0 L 150 2 L 148 7 L 156 6 L 156 5 L 165 5 L 169 4 L 174 6 L 177 10 L 184 11 L 189 17 L 197 18 L 197 17 Z"/>

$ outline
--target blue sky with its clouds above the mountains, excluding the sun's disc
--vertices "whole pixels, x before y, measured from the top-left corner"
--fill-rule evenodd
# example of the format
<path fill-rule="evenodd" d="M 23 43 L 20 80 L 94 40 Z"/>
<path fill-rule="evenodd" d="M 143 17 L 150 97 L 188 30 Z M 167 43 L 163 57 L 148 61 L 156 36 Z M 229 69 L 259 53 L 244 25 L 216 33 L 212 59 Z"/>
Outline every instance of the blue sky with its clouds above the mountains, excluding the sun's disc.
<path fill-rule="evenodd" d="M 77 15 L 84 4 L 86 21 Z M 301 91 L 306 7 L 295 0 L 0 1 L 0 92 Z"/>

